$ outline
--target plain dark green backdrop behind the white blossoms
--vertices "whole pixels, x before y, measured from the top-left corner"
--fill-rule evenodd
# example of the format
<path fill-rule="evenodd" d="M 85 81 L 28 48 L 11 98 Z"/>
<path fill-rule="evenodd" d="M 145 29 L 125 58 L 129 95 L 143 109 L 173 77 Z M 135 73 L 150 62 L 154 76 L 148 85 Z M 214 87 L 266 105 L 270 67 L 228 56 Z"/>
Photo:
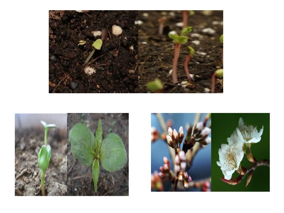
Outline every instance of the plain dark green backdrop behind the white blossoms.
<path fill-rule="evenodd" d="M 229 185 L 223 182 L 220 177 L 224 177 L 222 170 L 216 164 L 219 161 L 218 150 L 221 144 L 228 144 L 227 138 L 231 136 L 236 127 L 239 126 L 240 117 L 245 124 L 257 126 L 257 131 L 263 128 L 261 140 L 252 145 L 251 150 L 256 160 L 269 160 L 269 113 L 212 113 L 211 132 L 211 190 L 212 191 L 269 191 L 269 167 L 259 166 L 253 171 L 252 179 L 246 188 L 246 181 L 249 174 L 237 185 Z M 249 167 L 252 165 L 246 155 L 241 161 L 241 165 Z M 238 177 L 234 172 L 232 177 Z"/>

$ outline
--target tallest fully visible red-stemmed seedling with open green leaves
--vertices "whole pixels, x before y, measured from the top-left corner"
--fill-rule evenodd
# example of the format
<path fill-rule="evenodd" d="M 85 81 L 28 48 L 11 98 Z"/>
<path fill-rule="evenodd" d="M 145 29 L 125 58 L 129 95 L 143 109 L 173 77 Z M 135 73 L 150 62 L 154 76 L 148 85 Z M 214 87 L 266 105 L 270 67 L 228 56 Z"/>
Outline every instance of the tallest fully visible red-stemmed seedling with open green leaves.
<path fill-rule="evenodd" d="M 192 27 L 185 27 L 182 29 L 181 35 L 177 35 L 177 33 L 169 33 L 169 37 L 173 39 L 174 43 L 174 56 L 173 56 L 173 83 L 177 83 L 177 61 L 179 58 L 179 52 L 181 48 L 181 44 L 185 44 L 188 40 L 188 37 L 185 36 L 187 33 L 192 31 Z"/>

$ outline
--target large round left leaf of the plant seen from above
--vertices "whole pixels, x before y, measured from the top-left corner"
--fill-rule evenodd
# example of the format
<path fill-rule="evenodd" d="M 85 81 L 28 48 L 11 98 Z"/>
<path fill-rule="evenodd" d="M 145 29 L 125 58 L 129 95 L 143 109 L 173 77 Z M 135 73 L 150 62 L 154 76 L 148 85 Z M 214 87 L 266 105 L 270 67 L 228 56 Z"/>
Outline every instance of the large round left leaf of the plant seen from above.
<path fill-rule="evenodd" d="M 83 123 L 76 123 L 69 132 L 72 154 L 85 166 L 94 160 L 95 136 Z"/>

